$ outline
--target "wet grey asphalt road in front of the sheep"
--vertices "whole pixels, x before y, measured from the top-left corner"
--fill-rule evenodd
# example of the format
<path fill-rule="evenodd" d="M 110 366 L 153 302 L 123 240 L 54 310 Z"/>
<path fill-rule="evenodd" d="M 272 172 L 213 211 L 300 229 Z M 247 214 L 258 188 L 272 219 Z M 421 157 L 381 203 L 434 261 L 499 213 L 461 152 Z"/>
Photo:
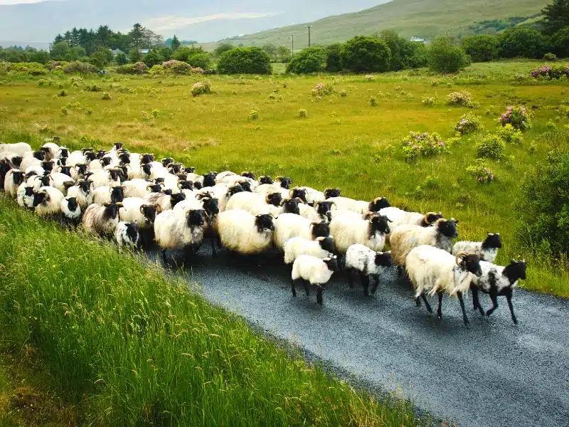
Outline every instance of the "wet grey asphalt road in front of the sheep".
<path fill-rule="evenodd" d="M 188 280 L 203 295 L 277 339 L 297 344 L 327 366 L 371 388 L 403 391 L 418 408 L 459 426 L 569 426 L 569 302 L 514 293 L 519 325 L 505 298 L 491 317 L 472 310 L 465 327 L 459 302 L 445 297 L 442 320 L 415 307 L 395 268 L 373 297 L 335 273 L 324 291 L 290 290 L 289 268 L 275 253 L 213 258 L 201 248 Z M 491 306 L 482 295 L 482 306 Z M 437 297 L 431 300 L 437 305 Z"/>

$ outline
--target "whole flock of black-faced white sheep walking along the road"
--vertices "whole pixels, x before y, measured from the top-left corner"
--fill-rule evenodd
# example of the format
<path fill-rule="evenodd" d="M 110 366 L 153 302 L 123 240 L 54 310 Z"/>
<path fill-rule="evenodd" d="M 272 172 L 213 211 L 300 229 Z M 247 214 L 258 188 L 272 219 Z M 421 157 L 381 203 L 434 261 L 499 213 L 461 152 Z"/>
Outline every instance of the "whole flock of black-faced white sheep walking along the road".
<path fill-rule="evenodd" d="M 430 212 L 418 214 L 390 206 L 383 197 L 358 201 L 339 189 L 324 192 L 306 186 L 290 188 L 279 176 L 255 179 L 251 172 L 196 174 L 174 159 L 161 162 L 154 154 L 131 153 L 116 143 L 109 152 L 85 148 L 70 152 L 58 137 L 46 139 L 38 151 L 29 144 L 0 144 L 0 189 L 25 209 L 70 226 L 83 222 L 88 233 L 112 236 L 119 247 L 138 248 L 152 241 L 166 251 L 198 251 L 205 238 L 243 255 L 276 247 L 292 264 L 292 295 L 302 282 L 317 288 L 317 301 L 331 275 L 344 270 L 353 288 L 353 273 L 363 291 L 376 292 L 385 268 L 403 268 L 415 290 L 415 302 L 425 294 L 457 296 L 468 324 L 463 295 L 472 290 L 474 309 L 490 315 L 499 295 L 506 296 L 517 323 L 511 297 L 526 263 L 511 260 L 494 265 L 501 238 L 488 233 L 482 242 L 459 241 L 454 218 Z M 383 252 L 389 243 L 390 252 Z M 339 263 L 338 256 L 341 257 Z M 492 307 L 484 313 L 478 292 L 489 294 Z"/>

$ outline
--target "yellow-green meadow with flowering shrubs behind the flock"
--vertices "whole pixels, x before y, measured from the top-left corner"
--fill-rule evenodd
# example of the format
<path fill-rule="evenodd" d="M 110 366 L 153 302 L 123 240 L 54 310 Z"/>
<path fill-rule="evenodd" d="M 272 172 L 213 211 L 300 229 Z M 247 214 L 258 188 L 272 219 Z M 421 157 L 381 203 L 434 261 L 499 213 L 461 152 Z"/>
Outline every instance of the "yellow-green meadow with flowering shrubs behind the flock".
<path fill-rule="evenodd" d="M 543 134 L 568 123 L 557 110 L 568 97 L 567 83 L 520 77 L 538 65 L 507 61 L 474 64 L 454 76 L 420 70 L 371 80 L 363 75 L 6 76 L 0 86 L 0 140 L 38 147 L 44 137 L 59 135 L 72 148 L 120 141 L 133 152 L 171 156 L 202 173 L 285 175 L 295 184 L 337 186 L 357 199 L 381 195 L 402 209 L 442 211 L 460 221 L 462 239 L 479 241 L 486 231 L 500 232 L 504 248 L 497 263 L 528 260 L 528 280 L 521 287 L 568 297 L 567 261 L 536 253 L 516 238 L 519 183 L 552 148 Z M 191 85 L 205 78 L 213 93 L 193 97 Z M 311 96 L 319 82 L 330 83 L 334 93 Z M 447 105 L 447 94 L 455 90 L 471 93 L 479 107 Z M 425 105 L 424 97 L 432 97 L 434 105 Z M 466 170 L 477 157 L 474 144 L 496 130 L 496 119 L 509 105 L 528 107 L 533 127 L 522 144 L 507 144 L 500 161 L 487 162 L 496 179 L 480 184 Z M 467 112 L 479 115 L 485 130 L 453 138 L 452 125 Z M 411 131 L 438 132 L 450 149 L 408 162 L 401 139 Z"/>

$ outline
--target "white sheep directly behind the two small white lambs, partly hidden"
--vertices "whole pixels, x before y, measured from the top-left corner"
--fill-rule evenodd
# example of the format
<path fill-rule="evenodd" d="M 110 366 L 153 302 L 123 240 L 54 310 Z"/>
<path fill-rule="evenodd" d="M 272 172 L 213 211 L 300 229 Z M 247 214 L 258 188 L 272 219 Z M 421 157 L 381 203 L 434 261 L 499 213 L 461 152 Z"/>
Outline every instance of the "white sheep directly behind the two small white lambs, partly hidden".
<path fill-rule="evenodd" d="M 304 237 L 314 240 L 318 237 L 328 237 L 330 228 L 328 223 L 313 222 L 296 214 L 282 214 L 275 220 L 275 233 L 273 241 L 275 246 L 284 251 L 285 243 L 292 237 Z"/>

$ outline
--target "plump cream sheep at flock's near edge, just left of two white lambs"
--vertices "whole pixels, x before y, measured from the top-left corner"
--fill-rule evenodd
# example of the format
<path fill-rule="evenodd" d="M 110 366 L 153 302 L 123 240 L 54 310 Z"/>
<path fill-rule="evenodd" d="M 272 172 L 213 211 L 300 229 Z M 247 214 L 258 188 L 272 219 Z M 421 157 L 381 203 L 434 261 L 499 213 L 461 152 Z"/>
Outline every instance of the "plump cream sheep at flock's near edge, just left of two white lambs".
<path fill-rule="evenodd" d="M 275 224 L 272 216 L 253 216 L 241 209 L 231 209 L 218 216 L 221 243 L 241 255 L 261 253 L 271 246 Z"/>

